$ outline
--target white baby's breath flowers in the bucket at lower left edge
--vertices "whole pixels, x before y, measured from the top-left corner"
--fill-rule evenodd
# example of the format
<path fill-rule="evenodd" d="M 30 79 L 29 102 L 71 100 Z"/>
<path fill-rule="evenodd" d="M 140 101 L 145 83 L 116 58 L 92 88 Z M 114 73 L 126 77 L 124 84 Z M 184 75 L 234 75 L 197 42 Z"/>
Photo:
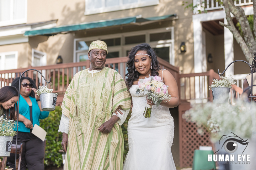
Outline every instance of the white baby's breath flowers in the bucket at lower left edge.
<path fill-rule="evenodd" d="M 16 120 L 7 120 L 4 116 L 0 117 L 0 136 L 15 136 L 14 128 L 17 126 Z"/>

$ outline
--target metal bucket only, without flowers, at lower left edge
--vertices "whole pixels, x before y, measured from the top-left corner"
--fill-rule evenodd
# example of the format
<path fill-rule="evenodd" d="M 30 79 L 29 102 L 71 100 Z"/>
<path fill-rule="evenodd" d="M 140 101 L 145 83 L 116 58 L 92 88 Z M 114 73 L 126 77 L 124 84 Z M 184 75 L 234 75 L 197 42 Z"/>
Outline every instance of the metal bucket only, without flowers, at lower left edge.
<path fill-rule="evenodd" d="M 0 157 L 10 157 L 12 138 L 11 136 L 0 136 Z"/>

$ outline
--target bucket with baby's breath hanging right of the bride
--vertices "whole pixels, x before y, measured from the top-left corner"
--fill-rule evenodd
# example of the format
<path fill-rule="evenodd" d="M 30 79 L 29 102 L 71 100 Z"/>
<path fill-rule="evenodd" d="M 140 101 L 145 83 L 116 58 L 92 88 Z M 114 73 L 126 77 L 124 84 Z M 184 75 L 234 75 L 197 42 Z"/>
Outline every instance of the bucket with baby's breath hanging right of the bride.
<path fill-rule="evenodd" d="M 214 103 L 226 103 L 228 102 L 229 92 L 232 85 L 236 84 L 235 79 L 231 76 L 220 76 L 220 79 L 213 79 L 212 85 L 209 89 L 213 93 Z"/>

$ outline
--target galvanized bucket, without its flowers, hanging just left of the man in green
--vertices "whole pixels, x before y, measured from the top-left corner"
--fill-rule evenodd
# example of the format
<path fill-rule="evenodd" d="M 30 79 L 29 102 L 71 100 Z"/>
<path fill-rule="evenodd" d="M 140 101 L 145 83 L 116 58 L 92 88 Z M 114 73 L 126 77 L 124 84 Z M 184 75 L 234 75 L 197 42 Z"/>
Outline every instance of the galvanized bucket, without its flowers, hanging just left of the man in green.
<path fill-rule="evenodd" d="M 43 93 L 40 95 L 40 101 L 43 111 L 54 111 L 56 102 L 57 102 L 57 94 L 55 93 Z"/>

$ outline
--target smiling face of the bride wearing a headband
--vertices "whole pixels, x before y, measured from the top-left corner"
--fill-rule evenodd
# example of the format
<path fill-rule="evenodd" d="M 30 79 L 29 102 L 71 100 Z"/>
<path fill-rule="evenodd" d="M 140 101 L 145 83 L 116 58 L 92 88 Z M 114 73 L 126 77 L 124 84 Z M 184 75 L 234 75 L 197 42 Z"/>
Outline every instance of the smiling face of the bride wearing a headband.
<path fill-rule="evenodd" d="M 146 51 L 138 51 L 136 54 L 146 54 Z M 151 58 L 147 55 L 137 55 L 134 58 L 134 66 L 137 72 L 142 75 L 148 75 L 151 73 Z"/>

